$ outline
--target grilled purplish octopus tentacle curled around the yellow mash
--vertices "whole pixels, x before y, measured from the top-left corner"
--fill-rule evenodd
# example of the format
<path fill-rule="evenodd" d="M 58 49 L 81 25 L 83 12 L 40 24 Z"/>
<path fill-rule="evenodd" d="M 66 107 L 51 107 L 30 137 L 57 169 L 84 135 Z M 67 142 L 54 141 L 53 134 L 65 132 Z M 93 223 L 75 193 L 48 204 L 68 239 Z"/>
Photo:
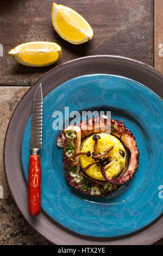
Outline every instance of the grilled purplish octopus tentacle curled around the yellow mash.
<path fill-rule="evenodd" d="M 109 176 L 105 172 L 105 168 L 103 165 L 102 160 L 98 159 L 99 164 L 101 165 L 101 172 L 103 174 L 103 177 L 105 179 L 105 182 L 98 181 L 91 179 L 89 176 L 87 176 L 83 170 L 81 170 L 80 163 L 79 163 L 79 155 L 80 153 L 80 145 L 81 145 L 81 139 L 93 135 L 93 133 L 99 133 L 99 132 L 106 132 L 107 131 L 107 119 L 108 117 L 103 115 L 101 117 L 96 117 L 94 119 L 90 118 L 86 121 L 80 121 L 79 124 L 74 126 L 69 126 L 67 129 L 62 131 L 61 135 L 58 138 L 58 145 L 60 142 L 63 143 L 64 147 L 64 162 L 65 162 L 65 170 L 66 170 L 66 179 L 70 183 L 71 186 L 74 186 L 77 188 L 77 190 L 81 191 L 81 188 L 83 186 L 82 182 L 78 182 L 76 184 L 75 180 L 71 177 L 70 172 L 68 172 L 68 167 L 77 167 L 77 172 L 84 175 L 85 178 L 89 179 L 92 185 L 97 186 L 103 186 L 105 182 L 109 182 L 111 185 L 110 191 L 103 191 L 101 190 L 101 195 L 98 195 L 96 193 L 96 196 L 108 196 L 112 192 L 114 192 L 118 186 L 126 183 L 131 178 L 133 178 L 134 173 L 136 172 L 137 167 L 139 167 L 139 149 L 137 148 L 137 143 L 135 142 L 135 137 L 133 133 L 124 125 L 123 120 L 118 121 L 111 119 L 111 135 L 115 136 L 120 140 L 123 147 L 126 150 L 127 157 L 126 157 L 126 164 L 122 172 L 115 176 L 109 178 Z M 100 127 L 100 121 L 103 121 L 103 126 Z M 90 126 L 92 129 L 90 130 Z M 76 131 L 76 138 L 74 139 L 74 152 L 73 155 L 70 157 L 67 157 L 65 154 L 66 145 L 67 145 L 67 137 L 66 137 L 66 130 L 75 130 Z M 88 154 L 89 153 L 85 153 Z M 90 191 L 87 191 L 86 189 L 83 190 L 85 194 L 90 194 Z"/>

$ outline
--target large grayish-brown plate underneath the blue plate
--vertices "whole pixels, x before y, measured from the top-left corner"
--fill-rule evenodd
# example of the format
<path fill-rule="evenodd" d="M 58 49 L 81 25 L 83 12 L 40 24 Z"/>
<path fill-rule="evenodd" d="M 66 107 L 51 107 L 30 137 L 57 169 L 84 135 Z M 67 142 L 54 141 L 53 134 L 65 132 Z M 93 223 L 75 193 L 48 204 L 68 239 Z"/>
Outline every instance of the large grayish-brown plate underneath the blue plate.
<path fill-rule="evenodd" d="M 150 227 L 127 237 L 114 239 L 96 239 L 80 236 L 61 227 L 49 218 L 43 211 L 37 217 L 28 214 L 27 185 L 22 174 L 20 161 L 21 139 L 27 120 L 32 109 L 32 99 L 36 86 L 41 82 L 43 96 L 60 84 L 73 77 L 86 74 L 112 74 L 131 78 L 152 89 L 162 98 L 162 75 L 150 66 L 117 56 L 85 57 L 62 64 L 42 76 L 23 96 L 10 120 L 4 145 L 4 167 L 7 180 L 15 201 L 26 220 L 48 240 L 58 245 L 74 244 L 148 244 L 161 238 L 162 218 L 155 221 Z M 18 147 L 17 147 L 18 146 Z M 14 182 L 12 182 L 14 180 Z M 156 229 L 157 234 L 155 234 Z M 146 235 L 145 235 L 146 234 Z"/>

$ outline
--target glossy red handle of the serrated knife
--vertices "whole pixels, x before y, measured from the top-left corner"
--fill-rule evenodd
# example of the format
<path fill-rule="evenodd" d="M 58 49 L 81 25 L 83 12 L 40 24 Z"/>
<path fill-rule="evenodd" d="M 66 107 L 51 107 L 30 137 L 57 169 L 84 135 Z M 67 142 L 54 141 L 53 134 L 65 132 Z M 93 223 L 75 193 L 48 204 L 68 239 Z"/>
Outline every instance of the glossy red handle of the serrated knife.
<path fill-rule="evenodd" d="M 28 208 L 38 215 L 41 208 L 41 163 L 39 155 L 30 155 L 28 170 Z"/>

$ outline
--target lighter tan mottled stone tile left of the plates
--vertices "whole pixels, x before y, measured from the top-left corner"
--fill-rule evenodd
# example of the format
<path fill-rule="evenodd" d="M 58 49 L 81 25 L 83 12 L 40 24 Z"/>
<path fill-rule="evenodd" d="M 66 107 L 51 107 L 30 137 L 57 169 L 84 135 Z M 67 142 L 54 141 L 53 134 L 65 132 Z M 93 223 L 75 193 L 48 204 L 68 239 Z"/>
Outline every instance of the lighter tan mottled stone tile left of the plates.
<path fill-rule="evenodd" d="M 0 245 L 51 245 L 24 220 L 9 191 L 3 169 L 5 131 L 14 108 L 28 87 L 0 87 Z M 2 194 L 1 194 L 2 196 Z"/>

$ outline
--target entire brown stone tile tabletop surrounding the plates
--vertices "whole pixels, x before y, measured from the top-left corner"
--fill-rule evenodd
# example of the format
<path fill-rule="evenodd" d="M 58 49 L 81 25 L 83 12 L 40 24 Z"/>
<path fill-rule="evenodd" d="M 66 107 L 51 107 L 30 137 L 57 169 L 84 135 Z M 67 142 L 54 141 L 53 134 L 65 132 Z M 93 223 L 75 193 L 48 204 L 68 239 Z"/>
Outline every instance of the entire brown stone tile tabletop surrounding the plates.
<path fill-rule="evenodd" d="M 22 42 L 55 41 L 63 52 L 56 65 L 87 55 L 117 54 L 155 65 L 163 71 L 163 57 L 159 57 L 158 52 L 159 45 L 163 44 L 161 0 L 58 0 L 57 3 L 83 15 L 93 28 L 93 39 L 78 46 L 62 40 L 54 31 L 52 2 L 0 2 L 0 43 L 4 47 L 4 56 L 0 57 L 0 185 L 4 190 L 4 198 L 0 199 L 1 245 L 51 245 L 29 226 L 12 199 L 4 177 L 3 141 L 17 102 L 28 86 L 55 65 L 46 68 L 22 66 L 8 56 L 8 51 Z M 157 244 L 163 245 L 163 240 Z"/>

